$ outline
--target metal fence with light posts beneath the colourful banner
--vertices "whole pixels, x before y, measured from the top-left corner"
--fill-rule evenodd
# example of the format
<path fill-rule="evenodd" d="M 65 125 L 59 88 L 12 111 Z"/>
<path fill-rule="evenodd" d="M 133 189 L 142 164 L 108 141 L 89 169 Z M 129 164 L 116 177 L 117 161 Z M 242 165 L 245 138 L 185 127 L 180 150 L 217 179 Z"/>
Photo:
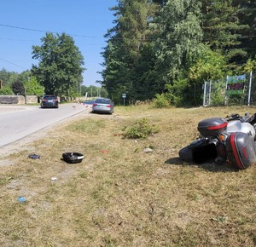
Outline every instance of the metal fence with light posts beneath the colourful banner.
<path fill-rule="evenodd" d="M 203 86 L 203 106 L 256 106 L 256 73 L 245 74 L 242 89 L 229 94 L 227 78 L 205 82 Z"/>

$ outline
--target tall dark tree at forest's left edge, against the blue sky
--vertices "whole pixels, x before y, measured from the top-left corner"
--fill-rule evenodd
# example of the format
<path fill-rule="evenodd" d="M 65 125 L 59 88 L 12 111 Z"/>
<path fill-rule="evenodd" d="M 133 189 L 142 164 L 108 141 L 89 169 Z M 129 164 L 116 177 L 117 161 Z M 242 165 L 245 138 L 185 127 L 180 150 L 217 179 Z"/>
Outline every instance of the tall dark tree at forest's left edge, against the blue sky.
<path fill-rule="evenodd" d="M 142 88 L 138 78 L 148 72 L 147 61 L 151 63 L 153 53 L 150 55 L 152 47 L 148 46 L 148 37 L 157 5 L 148 0 L 125 0 L 119 1 L 112 10 L 117 20 L 106 35 L 109 40 L 103 52 L 103 83 L 112 98 L 121 101 L 121 94 L 126 93 L 129 100 L 137 100 L 147 93 L 145 87 L 143 91 L 138 89 Z"/>

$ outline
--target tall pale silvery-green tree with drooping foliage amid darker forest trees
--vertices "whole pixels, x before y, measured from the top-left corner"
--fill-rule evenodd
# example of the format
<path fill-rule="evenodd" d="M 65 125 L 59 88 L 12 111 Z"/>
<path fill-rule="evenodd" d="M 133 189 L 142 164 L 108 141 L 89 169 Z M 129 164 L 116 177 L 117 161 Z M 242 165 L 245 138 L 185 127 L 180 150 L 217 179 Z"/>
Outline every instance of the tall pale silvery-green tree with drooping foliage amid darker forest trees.
<path fill-rule="evenodd" d="M 158 18 L 156 42 L 159 80 L 172 83 L 201 55 L 201 3 L 197 0 L 169 0 Z"/>

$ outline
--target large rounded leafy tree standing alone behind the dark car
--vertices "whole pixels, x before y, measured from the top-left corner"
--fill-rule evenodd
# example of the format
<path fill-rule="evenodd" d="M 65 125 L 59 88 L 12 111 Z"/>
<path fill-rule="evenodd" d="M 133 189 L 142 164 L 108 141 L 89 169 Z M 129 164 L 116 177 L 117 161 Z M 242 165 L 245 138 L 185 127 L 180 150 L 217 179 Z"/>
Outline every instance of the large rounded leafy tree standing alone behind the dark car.
<path fill-rule="evenodd" d="M 73 38 L 65 33 L 47 33 L 41 46 L 32 47 L 32 58 L 39 60 L 32 66 L 32 75 L 44 86 L 46 94 L 73 96 L 79 93 L 83 81 L 84 57 Z"/>

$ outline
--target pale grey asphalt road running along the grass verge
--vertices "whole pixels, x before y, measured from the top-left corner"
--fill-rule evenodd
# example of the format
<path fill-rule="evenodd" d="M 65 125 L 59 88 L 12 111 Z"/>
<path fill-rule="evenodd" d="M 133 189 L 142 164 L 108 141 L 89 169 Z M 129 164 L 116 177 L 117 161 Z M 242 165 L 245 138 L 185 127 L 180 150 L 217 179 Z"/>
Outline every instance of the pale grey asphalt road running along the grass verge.
<path fill-rule="evenodd" d="M 63 104 L 59 108 L 41 109 L 40 106 L 0 105 L 0 147 L 71 118 L 90 107 L 81 104 Z"/>

